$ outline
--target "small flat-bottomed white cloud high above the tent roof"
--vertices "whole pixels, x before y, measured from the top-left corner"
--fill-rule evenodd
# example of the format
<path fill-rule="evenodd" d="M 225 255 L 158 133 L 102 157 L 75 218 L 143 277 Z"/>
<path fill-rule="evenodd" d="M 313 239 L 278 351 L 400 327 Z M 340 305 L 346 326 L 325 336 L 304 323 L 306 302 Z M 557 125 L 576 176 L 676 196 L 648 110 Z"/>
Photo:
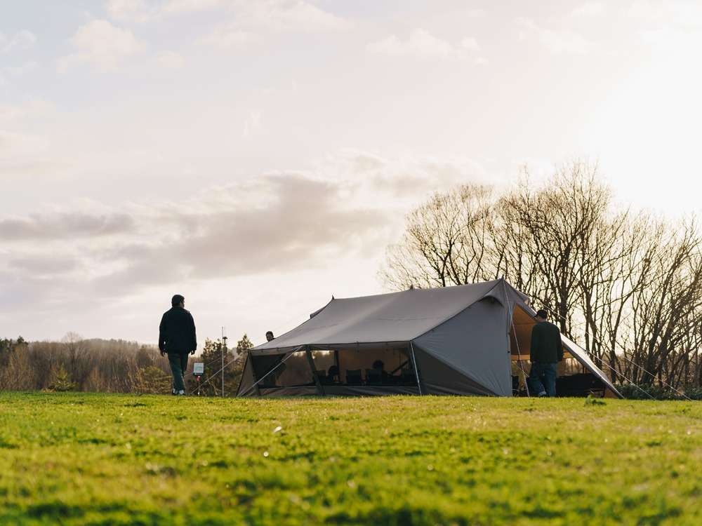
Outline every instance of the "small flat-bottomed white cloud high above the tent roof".
<path fill-rule="evenodd" d="M 421 28 L 415 29 L 406 40 L 393 34 L 366 46 L 371 53 L 416 58 L 461 58 L 466 52 L 477 51 L 479 48 L 477 41 L 472 37 L 453 45 Z"/>

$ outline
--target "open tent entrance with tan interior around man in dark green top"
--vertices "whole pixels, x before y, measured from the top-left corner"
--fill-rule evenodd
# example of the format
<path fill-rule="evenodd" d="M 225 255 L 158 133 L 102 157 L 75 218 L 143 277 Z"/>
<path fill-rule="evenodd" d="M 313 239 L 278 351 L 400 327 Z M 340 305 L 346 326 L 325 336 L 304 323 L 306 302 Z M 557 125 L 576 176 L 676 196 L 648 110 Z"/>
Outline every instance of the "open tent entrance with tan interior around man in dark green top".
<path fill-rule="evenodd" d="M 512 394 L 527 396 L 524 386 L 524 373 L 529 376 L 531 362 L 531 329 L 536 320 L 521 306 L 515 305 L 510 330 L 510 351 L 512 358 Z M 524 370 L 524 373 L 522 372 Z M 556 393 L 558 396 L 604 396 L 606 385 L 585 365 L 579 362 L 564 346 L 563 361 L 558 364 Z"/>

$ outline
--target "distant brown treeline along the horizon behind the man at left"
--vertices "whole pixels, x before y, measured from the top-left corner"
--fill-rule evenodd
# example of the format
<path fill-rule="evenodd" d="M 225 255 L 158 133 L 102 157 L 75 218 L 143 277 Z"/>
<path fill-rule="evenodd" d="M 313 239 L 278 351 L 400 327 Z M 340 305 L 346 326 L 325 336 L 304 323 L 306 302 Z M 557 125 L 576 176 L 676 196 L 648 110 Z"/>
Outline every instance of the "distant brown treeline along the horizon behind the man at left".
<path fill-rule="evenodd" d="M 219 340 L 207 339 L 199 356 L 192 356 L 189 361 L 189 392 L 197 390 L 192 364 L 203 361 L 201 393 L 221 394 L 224 353 L 225 394 L 236 393 L 245 353 L 251 346 L 246 335 L 233 350 L 223 348 Z M 169 393 L 171 370 L 168 359 L 160 355 L 156 346 L 121 339 L 83 339 L 74 333 L 61 342 L 0 339 L 0 390 Z"/>

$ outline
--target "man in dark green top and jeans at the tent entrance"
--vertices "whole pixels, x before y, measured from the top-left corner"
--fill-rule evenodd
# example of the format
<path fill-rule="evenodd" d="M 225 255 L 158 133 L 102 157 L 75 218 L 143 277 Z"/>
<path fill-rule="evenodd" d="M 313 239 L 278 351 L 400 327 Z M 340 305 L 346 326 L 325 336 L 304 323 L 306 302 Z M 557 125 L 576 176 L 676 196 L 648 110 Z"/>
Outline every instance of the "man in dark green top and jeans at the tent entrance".
<path fill-rule="evenodd" d="M 547 317 L 545 310 L 538 311 L 531 329 L 529 390 L 536 396 L 556 396 L 558 362 L 563 359 L 561 333 Z"/>

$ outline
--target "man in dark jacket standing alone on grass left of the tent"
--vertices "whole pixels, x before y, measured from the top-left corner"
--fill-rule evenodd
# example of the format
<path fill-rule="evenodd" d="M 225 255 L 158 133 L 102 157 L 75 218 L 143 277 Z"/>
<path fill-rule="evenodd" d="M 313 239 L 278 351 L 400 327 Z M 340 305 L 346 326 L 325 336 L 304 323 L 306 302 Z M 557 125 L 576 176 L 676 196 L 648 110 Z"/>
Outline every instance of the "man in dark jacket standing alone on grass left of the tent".
<path fill-rule="evenodd" d="M 159 351 L 161 356 L 168 353 L 168 363 L 173 372 L 173 394 L 185 394 L 183 375 L 187 370 L 187 353 L 197 349 L 195 322 L 190 312 L 185 310 L 185 298 L 176 294 L 171 299 L 171 310 L 164 313 L 159 325 Z"/>

